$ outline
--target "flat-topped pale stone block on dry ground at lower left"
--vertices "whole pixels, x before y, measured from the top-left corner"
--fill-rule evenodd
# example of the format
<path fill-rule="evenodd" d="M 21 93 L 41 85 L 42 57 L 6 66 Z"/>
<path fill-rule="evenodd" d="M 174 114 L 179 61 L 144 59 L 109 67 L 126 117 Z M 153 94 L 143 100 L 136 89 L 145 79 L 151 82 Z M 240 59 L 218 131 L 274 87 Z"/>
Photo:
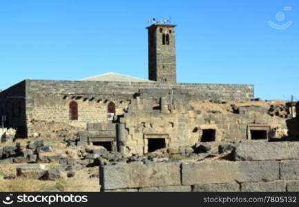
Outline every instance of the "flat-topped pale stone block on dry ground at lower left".
<path fill-rule="evenodd" d="M 46 167 L 39 164 L 23 164 L 17 166 L 17 176 L 31 179 L 39 179 L 46 172 Z"/>

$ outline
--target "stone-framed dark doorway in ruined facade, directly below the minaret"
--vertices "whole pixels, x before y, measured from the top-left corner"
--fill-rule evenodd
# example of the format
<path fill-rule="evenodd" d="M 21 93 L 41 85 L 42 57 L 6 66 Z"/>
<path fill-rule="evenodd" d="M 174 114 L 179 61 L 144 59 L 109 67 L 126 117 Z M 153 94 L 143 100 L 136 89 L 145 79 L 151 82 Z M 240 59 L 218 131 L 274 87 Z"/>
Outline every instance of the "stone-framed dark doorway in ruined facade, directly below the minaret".
<path fill-rule="evenodd" d="M 144 134 L 144 154 L 169 147 L 168 134 Z"/>

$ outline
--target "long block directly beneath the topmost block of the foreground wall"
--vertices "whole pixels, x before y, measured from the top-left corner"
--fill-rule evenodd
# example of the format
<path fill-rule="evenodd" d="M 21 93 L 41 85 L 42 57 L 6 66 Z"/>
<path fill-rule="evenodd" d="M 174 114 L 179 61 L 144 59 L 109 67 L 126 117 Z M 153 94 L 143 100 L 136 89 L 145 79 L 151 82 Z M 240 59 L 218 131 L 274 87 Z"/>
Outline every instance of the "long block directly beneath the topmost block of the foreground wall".
<path fill-rule="evenodd" d="M 211 161 L 182 164 L 182 184 L 224 184 L 273 181 L 279 177 L 276 161 Z"/>

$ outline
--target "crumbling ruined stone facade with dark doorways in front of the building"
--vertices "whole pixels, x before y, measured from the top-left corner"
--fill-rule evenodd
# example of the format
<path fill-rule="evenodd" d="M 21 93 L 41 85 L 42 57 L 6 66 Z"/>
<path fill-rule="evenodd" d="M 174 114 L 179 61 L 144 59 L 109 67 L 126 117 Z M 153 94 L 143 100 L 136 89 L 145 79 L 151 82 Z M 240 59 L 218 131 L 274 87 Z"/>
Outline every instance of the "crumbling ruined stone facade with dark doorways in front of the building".
<path fill-rule="evenodd" d="M 191 147 L 202 141 L 204 130 L 215 130 L 214 141 L 251 139 L 251 130 L 257 129 L 267 132 L 264 141 L 268 141 L 273 130 L 287 130 L 286 119 L 269 115 L 267 108 L 250 105 L 230 111 L 195 108 L 202 104 L 202 100 L 193 99 L 184 90 L 140 89 L 139 96 L 120 119 L 126 128 L 124 153 L 147 153 L 148 139 L 155 138 L 164 139 L 166 148 Z"/>

